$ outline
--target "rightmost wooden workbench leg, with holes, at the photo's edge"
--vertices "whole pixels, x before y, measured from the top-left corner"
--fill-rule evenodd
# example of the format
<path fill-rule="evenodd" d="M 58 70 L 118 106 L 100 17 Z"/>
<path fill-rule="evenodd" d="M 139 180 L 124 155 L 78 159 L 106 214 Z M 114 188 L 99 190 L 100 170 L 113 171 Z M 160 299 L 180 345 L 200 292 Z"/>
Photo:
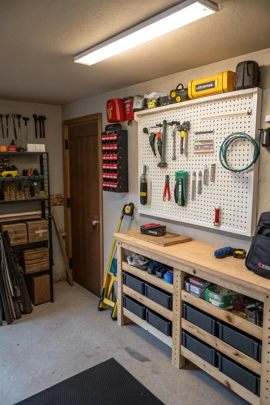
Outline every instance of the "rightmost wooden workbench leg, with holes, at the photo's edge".
<path fill-rule="evenodd" d="M 270 404 L 270 295 L 264 297 L 264 324 L 261 348 L 260 405 Z"/>

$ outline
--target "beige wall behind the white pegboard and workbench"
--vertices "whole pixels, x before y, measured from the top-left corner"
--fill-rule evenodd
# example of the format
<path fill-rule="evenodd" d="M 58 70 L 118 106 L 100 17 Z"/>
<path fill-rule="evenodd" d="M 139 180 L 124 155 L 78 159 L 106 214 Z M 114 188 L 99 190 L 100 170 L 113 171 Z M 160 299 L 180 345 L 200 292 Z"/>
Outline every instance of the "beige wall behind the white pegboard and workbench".
<path fill-rule="evenodd" d="M 162 57 L 162 56 L 161 56 Z M 149 94 L 152 91 L 169 93 L 175 88 L 178 83 L 183 83 L 187 86 L 190 79 L 199 79 L 207 77 L 223 70 L 235 71 L 236 64 L 243 60 L 255 60 L 261 68 L 261 85 L 263 89 L 263 104 L 261 113 L 261 126 L 265 126 L 265 115 L 270 114 L 270 49 L 242 55 L 237 58 L 224 60 L 200 68 L 186 70 L 174 75 L 161 77 L 140 83 L 131 87 L 127 87 L 114 92 L 101 94 L 99 96 L 87 98 L 79 102 L 68 104 L 62 107 L 62 118 L 69 119 L 80 117 L 91 113 L 102 113 L 102 128 L 104 130 L 106 121 L 106 101 L 110 98 L 123 98 L 125 96 L 133 96 L 134 94 Z M 155 68 L 151 65 L 151 68 Z M 90 73 L 89 68 L 89 74 Z M 179 64 L 179 70 L 181 65 Z M 113 80 L 113 77 L 111 78 Z M 104 207 L 104 267 L 109 257 L 109 252 L 112 245 L 112 234 L 117 229 L 121 209 L 125 203 L 132 201 L 137 205 L 138 200 L 138 141 L 137 141 L 137 124 L 133 122 L 132 127 L 127 127 L 123 123 L 122 128 L 128 129 L 128 168 L 129 168 L 129 190 L 128 194 L 112 194 L 103 192 L 103 207 Z M 239 128 L 240 129 L 240 128 Z M 266 148 L 261 149 L 259 161 L 259 198 L 258 198 L 258 214 L 262 211 L 270 209 L 270 151 Z M 139 215 L 135 208 L 135 218 L 131 222 L 129 217 L 125 217 L 121 230 L 138 229 L 140 225 L 153 220 L 153 217 Z M 169 220 L 162 220 L 162 223 L 167 226 L 167 229 L 191 236 L 193 239 L 205 241 L 207 243 L 219 246 L 238 246 L 249 249 L 251 238 L 234 237 L 228 233 L 219 230 L 209 230 L 198 226 L 185 225 Z"/>

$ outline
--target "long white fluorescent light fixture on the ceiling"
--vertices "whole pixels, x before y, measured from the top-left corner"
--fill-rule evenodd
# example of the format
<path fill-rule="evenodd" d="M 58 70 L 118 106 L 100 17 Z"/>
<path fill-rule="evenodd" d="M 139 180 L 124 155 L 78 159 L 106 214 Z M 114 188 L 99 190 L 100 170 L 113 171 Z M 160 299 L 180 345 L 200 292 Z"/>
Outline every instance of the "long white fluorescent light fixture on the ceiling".
<path fill-rule="evenodd" d="M 101 60 L 110 58 L 137 45 L 157 38 L 167 32 L 176 30 L 202 17 L 215 13 L 217 4 L 208 0 L 186 0 L 171 9 L 164 11 L 130 28 L 111 39 L 80 53 L 74 62 L 93 65 Z"/>

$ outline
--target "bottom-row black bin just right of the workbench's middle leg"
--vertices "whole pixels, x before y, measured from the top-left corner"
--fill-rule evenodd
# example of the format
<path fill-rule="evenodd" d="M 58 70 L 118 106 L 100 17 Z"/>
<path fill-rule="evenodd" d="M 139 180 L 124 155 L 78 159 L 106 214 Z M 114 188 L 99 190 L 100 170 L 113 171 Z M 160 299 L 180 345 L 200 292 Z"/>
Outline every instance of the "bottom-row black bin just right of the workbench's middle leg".
<path fill-rule="evenodd" d="M 217 351 L 207 343 L 204 343 L 195 336 L 189 335 L 189 333 L 183 331 L 182 345 L 186 347 L 187 350 L 190 350 L 190 352 L 212 364 L 212 366 L 217 366 Z"/>

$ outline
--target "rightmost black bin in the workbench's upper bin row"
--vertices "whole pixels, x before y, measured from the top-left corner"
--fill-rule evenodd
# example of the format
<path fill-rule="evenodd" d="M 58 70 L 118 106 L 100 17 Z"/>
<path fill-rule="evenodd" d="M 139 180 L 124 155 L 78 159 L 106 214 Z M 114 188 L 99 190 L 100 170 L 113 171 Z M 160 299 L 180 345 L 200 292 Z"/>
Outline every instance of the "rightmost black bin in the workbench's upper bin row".
<path fill-rule="evenodd" d="M 227 326 L 223 322 L 217 321 L 219 329 L 219 339 L 235 347 L 240 352 L 247 354 L 251 358 L 261 362 L 261 342 L 247 333 L 240 332 L 233 326 Z"/>

